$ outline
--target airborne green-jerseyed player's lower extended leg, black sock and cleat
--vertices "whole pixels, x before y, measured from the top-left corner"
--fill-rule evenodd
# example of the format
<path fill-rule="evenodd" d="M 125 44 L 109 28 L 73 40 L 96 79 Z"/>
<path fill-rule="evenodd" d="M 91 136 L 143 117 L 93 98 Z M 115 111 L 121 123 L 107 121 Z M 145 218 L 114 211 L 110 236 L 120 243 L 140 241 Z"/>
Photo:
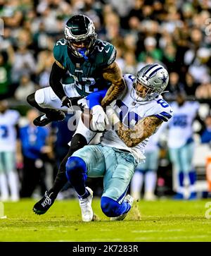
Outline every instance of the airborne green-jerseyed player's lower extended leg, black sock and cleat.
<path fill-rule="evenodd" d="M 92 132 L 86 126 L 84 126 L 82 119 L 80 118 L 77 130 L 70 143 L 70 149 L 60 164 L 55 181 L 53 182 L 53 186 L 49 191 L 46 191 L 44 197 L 42 197 L 41 200 L 39 200 L 39 202 L 34 205 L 33 210 L 35 213 L 44 214 L 51 207 L 51 205 L 53 205 L 53 202 L 56 200 L 59 191 L 68 181 L 65 175 L 65 166 L 68 158 L 71 157 L 74 152 L 87 145 L 89 141 L 94 138 L 94 135 L 96 135 L 96 133 Z"/>

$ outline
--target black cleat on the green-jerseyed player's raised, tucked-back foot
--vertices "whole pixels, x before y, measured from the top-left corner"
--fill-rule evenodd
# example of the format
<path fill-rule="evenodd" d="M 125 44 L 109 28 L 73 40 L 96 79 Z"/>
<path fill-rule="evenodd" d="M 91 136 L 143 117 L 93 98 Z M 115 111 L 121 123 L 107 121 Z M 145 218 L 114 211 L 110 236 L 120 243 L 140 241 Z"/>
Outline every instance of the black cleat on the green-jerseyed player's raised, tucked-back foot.
<path fill-rule="evenodd" d="M 51 109 L 48 114 L 43 114 L 34 119 L 34 126 L 46 126 L 52 121 L 63 121 L 65 113 L 60 110 Z"/>

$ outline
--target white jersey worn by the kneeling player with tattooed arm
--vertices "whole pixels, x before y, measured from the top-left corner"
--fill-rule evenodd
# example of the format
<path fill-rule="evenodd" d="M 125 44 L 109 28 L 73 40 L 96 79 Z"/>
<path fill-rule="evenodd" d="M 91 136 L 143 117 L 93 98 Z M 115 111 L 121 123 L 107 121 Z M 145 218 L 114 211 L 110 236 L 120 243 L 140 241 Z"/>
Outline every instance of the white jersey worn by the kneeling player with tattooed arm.
<path fill-rule="evenodd" d="M 120 121 L 124 123 L 124 126 L 134 128 L 138 121 L 147 116 L 157 116 L 162 121 L 169 121 L 172 117 L 172 109 L 170 105 L 162 99 L 161 95 L 150 102 L 134 102 L 134 99 L 130 96 L 133 80 L 134 75 L 124 75 L 124 81 L 128 90 L 126 94 L 116 100 L 114 106 L 115 112 L 120 118 Z M 136 161 L 140 162 L 145 159 L 144 152 L 148 139 L 149 138 L 146 138 L 146 140 L 143 140 L 135 147 L 127 147 L 115 130 L 108 130 L 101 137 L 101 144 L 116 147 L 120 150 L 128 150 L 134 154 Z"/>

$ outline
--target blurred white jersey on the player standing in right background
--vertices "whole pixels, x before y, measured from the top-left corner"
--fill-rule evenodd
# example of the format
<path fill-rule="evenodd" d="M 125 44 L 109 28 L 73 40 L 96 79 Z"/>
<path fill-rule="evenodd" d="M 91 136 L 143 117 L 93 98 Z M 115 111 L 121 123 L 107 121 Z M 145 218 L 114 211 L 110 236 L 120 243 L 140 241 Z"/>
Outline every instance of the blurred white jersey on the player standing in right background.
<path fill-rule="evenodd" d="M 169 123 L 168 146 L 178 148 L 193 141 L 193 120 L 196 117 L 198 102 L 185 102 L 179 106 L 177 102 L 172 102 L 174 116 Z"/>

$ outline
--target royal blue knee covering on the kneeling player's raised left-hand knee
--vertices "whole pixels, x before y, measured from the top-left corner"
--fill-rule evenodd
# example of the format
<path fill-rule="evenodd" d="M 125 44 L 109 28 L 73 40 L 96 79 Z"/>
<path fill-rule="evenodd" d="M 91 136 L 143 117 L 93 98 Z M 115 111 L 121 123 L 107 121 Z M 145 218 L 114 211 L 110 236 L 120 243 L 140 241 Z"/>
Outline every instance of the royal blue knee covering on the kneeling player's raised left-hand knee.
<path fill-rule="evenodd" d="M 66 176 L 70 181 L 73 176 L 82 174 L 87 179 L 87 165 L 80 157 L 69 157 L 66 164 Z"/>

